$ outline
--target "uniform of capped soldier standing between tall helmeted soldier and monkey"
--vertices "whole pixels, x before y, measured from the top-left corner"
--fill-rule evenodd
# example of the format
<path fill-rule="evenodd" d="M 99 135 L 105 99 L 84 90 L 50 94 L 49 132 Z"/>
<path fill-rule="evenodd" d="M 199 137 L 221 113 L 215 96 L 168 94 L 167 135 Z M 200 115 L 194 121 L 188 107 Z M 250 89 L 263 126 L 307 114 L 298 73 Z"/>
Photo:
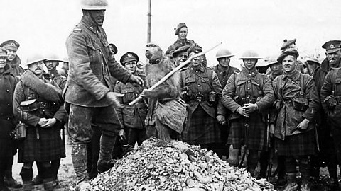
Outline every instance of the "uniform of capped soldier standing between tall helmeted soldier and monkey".
<path fill-rule="evenodd" d="M 142 86 L 136 83 L 124 84 L 120 81 L 115 86 L 115 92 L 124 94 L 119 100 L 125 107 L 117 109 L 117 115 L 119 116 L 121 124 L 124 125 L 126 135 L 128 136 L 128 144 L 131 146 L 134 146 L 136 142 L 141 145 L 142 141 L 146 140 L 147 137 L 146 127 L 144 125 L 144 120 L 147 115 L 146 103 L 142 100 L 135 105 L 128 105 L 131 101 L 139 97 L 143 89 Z"/>

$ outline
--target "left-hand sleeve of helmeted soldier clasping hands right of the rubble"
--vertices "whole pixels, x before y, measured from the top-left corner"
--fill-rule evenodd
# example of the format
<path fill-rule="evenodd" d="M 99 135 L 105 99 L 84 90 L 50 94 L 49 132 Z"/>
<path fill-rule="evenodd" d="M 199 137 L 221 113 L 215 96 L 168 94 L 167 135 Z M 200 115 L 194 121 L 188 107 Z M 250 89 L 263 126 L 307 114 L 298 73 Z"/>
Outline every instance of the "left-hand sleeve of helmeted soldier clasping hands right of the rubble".
<path fill-rule="evenodd" d="M 236 92 L 236 86 L 234 85 L 236 75 L 237 74 L 232 74 L 229 77 L 229 80 L 227 81 L 226 86 L 222 91 L 222 104 L 233 113 L 236 112 L 239 107 L 241 107 L 237 102 L 233 100 L 233 97 L 235 96 L 234 93 Z"/>

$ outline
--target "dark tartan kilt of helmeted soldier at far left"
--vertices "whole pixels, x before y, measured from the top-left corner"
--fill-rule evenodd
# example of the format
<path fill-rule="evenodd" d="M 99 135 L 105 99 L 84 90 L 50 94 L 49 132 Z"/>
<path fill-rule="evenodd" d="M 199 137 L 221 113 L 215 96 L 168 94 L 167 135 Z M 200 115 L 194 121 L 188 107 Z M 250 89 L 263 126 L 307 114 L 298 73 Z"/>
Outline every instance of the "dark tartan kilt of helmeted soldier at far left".
<path fill-rule="evenodd" d="M 60 138 L 60 127 L 54 125 L 49 128 L 26 127 L 26 138 L 19 144 L 18 163 L 53 161 L 65 157 L 65 146 Z"/>

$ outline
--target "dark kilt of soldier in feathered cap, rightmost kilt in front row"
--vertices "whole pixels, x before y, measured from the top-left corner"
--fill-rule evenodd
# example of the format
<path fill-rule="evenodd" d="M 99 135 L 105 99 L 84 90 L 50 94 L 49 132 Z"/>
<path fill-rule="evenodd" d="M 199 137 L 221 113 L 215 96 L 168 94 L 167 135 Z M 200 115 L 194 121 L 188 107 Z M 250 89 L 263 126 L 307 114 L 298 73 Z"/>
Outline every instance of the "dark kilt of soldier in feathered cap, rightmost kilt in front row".
<path fill-rule="evenodd" d="M 306 156 L 317 153 L 315 130 L 286 136 L 283 140 L 275 139 L 278 156 Z"/>

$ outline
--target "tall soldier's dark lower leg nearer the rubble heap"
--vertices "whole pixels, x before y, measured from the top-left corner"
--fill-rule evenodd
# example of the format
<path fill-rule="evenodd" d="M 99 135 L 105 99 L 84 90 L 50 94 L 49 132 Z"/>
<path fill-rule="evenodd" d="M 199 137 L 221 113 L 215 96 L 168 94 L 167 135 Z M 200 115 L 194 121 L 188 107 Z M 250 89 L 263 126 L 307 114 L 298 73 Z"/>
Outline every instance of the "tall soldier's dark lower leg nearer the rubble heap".
<path fill-rule="evenodd" d="M 99 173 L 103 173 L 107 170 L 110 170 L 114 166 L 114 161 L 112 160 L 112 149 L 114 149 L 116 137 L 102 134 L 100 142 L 101 145 L 99 149 L 97 171 Z"/>

